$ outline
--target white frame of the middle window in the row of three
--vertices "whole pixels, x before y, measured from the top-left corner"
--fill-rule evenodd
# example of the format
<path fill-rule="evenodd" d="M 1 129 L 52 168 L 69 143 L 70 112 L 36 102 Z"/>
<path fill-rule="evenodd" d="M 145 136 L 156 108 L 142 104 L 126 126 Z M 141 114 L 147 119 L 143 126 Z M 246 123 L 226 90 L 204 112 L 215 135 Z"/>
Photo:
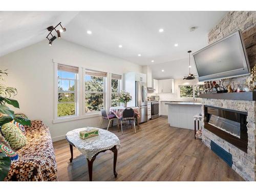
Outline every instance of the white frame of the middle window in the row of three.
<path fill-rule="evenodd" d="M 87 112 L 86 113 L 86 93 L 103 93 L 103 107 L 106 108 L 106 92 L 107 92 L 107 89 L 106 89 L 106 84 L 107 84 L 107 78 L 108 78 L 108 72 L 104 72 L 106 73 L 106 77 L 103 77 L 103 92 L 96 92 L 96 91 L 86 91 L 86 80 L 85 80 L 85 76 L 86 76 L 86 69 L 89 69 L 89 68 L 82 68 L 82 114 L 83 116 L 86 116 L 86 117 L 95 117 L 95 116 L 100 116 L 101 115 L 101 112 L 100 111 L 92 111 L 92 112 Z M 89 70 L 94 70 L 94 69 L 89 69 Z M 97 71 L 97 70 L 95 70 Z M 92 75 L 91 75 L 92 76 Z"/>

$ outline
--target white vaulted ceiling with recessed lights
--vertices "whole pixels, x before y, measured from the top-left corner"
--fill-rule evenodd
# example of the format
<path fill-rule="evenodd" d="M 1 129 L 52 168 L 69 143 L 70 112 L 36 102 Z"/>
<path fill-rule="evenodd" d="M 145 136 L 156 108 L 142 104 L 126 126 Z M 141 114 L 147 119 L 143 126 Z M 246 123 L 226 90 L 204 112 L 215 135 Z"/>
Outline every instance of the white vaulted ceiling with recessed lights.
<path fill-rule="evenodd" d="M 61 22 L 67 28 L 61 33 L 63 39 L 139 65 L 153 65 L 158 70 L 153 71 L 157 78 L 163 76 L 160 68 L 168 69 L 167 77 L 179 70 L 168 72 L 174 63 L 187 69 L 184 59 L 188 58 L 187 51 L 205 47 L 209 30 L 225 14 L 225 11 L 2 11 L 0 56 L 45 39 L 46 28 Z M 191 27 L 197 29 L 190 32 Z M 159 33 L 159 29 L 164 31 Z"/>

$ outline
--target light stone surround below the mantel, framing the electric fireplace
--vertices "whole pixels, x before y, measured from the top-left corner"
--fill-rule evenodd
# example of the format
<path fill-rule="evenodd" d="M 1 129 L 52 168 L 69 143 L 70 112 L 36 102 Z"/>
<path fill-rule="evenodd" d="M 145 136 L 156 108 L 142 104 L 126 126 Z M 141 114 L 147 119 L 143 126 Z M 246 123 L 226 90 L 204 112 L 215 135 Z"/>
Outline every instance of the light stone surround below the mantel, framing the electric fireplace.
<path fill-rule="evenodd" d="M 218 108 L 230 109 L 236 111 L 247 112 L 247 133 L 248 133 L 248 149 L 247 153 L 243 152 L 236 146 L 228 143 L 217 135 L 206 129 L 202 129 L 202 141 L 210 148 L 210 141 L 214 141 L 232 155 L 232 168 L 241 175 L 246 181 L 256 181 L 256 131 L 255 131 L 255 101 L 239 101 L 224 99 L 202 99 L 202 115 L 204 119 L 204 105 L 216 106 Z M 204 127 L 204 122 L 202 121 Z"/>

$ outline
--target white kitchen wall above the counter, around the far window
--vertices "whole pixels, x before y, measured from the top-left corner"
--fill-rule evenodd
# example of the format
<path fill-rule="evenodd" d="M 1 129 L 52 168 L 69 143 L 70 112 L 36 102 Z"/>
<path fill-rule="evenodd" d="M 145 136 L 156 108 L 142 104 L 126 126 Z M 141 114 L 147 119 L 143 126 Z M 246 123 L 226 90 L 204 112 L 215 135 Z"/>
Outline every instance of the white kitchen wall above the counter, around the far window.
<path fill-rule="evenodd" d="M 188 84 L 202 84 L 202 82 L 199 82 L 197 78 L 194 80 L 174 79 L 174 93 L 148 93 L 147 96 L 150 97 L 151 95 L 159 95 L 161 101 L 192 101 L 193 98 L 180 98 L 179 95 L 179 86 Z M 197 98 L 197 100 L 200 99 Z"/>

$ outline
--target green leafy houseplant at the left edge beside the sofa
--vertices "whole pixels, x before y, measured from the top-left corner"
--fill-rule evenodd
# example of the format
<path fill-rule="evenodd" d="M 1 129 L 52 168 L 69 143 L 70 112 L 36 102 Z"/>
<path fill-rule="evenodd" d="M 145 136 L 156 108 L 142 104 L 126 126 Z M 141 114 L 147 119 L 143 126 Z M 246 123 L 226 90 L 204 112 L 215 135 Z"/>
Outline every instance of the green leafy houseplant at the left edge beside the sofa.
<path fill-rule="evenodd" d="M 0 70 L 0 79 L 4 80 L 3 75 L 7 75 L 7 70 Z M 18 101 L 11 99 L 11 96 L 15 96 L 17 94 L 17 90 L 15 88 L 10 88 L 0 83 L 0 127 L 9 123 L 12 120 L 23 124 L 30 125 L 31 122 L 29 119 L 25 119 L 22 117 L 18 117 L 14 115 L 14 111 L 12 111 L 6 104 L 10 104 L 14 106 L 14 108 L 19 108 Z M 6 97 L 8 96 L 8 97 Z M 11 166 L 11 159 L 6 157 L 3 153 L 0 153 L 0 181 L 3 181 L 7 176 L 9 169 Z"/>

